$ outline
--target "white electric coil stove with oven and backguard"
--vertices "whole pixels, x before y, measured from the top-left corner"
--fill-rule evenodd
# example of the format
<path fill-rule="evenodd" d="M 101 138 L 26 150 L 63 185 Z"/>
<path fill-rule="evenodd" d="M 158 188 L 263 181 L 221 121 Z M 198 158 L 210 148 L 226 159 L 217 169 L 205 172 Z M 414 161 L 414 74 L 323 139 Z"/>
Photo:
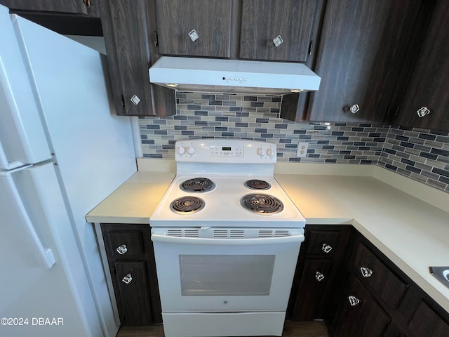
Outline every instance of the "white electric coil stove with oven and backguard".
<path fill-rule="evenodd" d="M 150 218 L 166 337 L 281 336 L 305 220 L 274 178 L 276 145 L 175 145 Z"/>

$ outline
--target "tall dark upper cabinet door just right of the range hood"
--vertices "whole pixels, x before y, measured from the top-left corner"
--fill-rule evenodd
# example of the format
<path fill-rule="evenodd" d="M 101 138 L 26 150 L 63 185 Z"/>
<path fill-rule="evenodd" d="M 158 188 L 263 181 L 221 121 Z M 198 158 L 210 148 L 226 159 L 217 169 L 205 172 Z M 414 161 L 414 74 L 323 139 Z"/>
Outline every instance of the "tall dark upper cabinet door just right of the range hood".
<path fill-rule="evenodd" d="M 382 121 L 419 8 L 413 0 L 329 0 L 315 68 L 321 86 L 307 119 Z"/>

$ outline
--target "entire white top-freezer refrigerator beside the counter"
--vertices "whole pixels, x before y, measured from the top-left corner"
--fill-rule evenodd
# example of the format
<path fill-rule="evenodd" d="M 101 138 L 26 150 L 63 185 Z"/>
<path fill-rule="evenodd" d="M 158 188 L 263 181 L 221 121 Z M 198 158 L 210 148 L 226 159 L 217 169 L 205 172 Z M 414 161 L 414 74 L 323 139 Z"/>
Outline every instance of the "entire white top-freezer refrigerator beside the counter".
<path fill-rule="evenodd" d="M 136 171 L 105 57 L 0 6 L 0 336 L 116 336 L 86 213 Z"/>

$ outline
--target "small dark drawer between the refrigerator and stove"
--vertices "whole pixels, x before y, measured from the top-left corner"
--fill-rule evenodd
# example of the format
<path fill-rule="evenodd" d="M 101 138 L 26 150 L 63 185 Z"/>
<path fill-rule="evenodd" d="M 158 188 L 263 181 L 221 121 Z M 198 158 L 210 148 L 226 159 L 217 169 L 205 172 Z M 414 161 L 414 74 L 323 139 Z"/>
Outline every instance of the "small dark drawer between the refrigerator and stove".
<path fill-rule="evenodd" d="M 105 244 L 114 260 L 142 258 L 145 254 L 143 233 L 140 230 L 111 231 L 105 234 Z M 149 240 L 149 237 L 147 238 Z"/>

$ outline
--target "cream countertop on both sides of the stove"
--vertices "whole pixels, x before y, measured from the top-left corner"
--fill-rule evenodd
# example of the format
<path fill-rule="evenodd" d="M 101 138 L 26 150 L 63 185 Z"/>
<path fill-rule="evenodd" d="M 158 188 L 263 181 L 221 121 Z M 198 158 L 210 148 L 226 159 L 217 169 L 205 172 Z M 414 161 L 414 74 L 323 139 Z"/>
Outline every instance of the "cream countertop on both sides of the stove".
<path fill-rule="evenodd" d="M 87 216 L 92 223 L 149 223 L 175 176 L 173 161 L 139 170 Z M 159 170 L 159 171 L 158 171 Z M 351 224 L 449 312 L 449 289 L 429 273 L 449 266 L 449 194 L 379 166 L 278 163 L 275 178 L 307 224 Z"/>

